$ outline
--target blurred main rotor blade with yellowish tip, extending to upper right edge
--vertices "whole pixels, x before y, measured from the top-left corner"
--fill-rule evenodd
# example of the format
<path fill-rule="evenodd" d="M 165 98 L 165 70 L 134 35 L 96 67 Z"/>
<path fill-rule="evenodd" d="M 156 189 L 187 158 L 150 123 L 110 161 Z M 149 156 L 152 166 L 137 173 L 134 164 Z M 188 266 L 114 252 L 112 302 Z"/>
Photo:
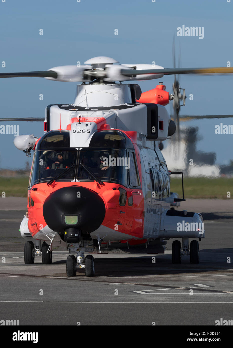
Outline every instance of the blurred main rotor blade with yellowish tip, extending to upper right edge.
<path fill-rule="evenodd" d="M 145 75 L 145 74 L 229 74 L 233 73 L 233 68 L 167 68 L 167 69 L 122 69 L 120 73 L 125 76 Z"/>

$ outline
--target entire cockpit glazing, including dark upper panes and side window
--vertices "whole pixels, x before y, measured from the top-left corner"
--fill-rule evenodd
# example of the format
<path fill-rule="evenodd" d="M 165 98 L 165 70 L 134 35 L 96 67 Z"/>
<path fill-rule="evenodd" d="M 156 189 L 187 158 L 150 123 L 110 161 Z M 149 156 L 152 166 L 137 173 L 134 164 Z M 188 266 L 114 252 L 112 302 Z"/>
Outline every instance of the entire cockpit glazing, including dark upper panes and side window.
<path fill-rule="evenodd" d="M 133 149 L 128 137 L 118 130 L 103 130 L 93 134 L 88 148 L 70 148 L 69 132 L 50 131 L 38 142 L 33 161 L 30 187 L 40 182 L 94 181 L 114 182 L 128 187 L 131 170 L 132 187 L 140 185 L 135 156 L 131 151 L 131 165 L 127 149 Z M 133 157 L 134 156 L 134 157 Z M 65 170 L 67 169 L 67 170 Z M 58 176 L 61 173 L 61 176 Z"/>

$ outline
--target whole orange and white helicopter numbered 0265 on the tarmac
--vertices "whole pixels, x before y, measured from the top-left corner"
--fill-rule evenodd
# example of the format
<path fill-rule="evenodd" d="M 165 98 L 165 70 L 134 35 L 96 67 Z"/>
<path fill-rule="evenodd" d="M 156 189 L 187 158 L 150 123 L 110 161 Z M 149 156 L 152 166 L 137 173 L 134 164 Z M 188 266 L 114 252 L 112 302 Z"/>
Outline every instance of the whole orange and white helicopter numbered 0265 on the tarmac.
<path fill-rule="evenodd" d="M 170 209 L 171 203 L 185 199 L 170 195 L 173 173 L 159 149 L 176 129 L 165 105 L 174 100 L 177 110 L 180 100 L 185 102 L 185 93 L 181 95 L 176 81 L 174 95 L 166 92 L 162 82 L 142 93 L 139 85 L 122 81 L 232 73 L 233 69 L 116 63 L 101 56 L 81 66 L 0 74 L 82 82 L 74 103 L 47 106 L 39 139 L 32 134 L 14 139 L 27 156 L 34 151 L 28 214 L 20 226 L 21 236 L 29 239 L 24 248 L 26 264 L 33 264 L 35 255 L 42 255 L 44 264 L 52 263 L 52 245 L 67 246 L 67 276 L 85 268 L 90 277 L 94 275 L 91 253 L 101 253 L 101 242 L 103 246 L 118 242 L 118 247 L 154 244 L 164 252 L 169 238 L 182 238 L 182 246 L 179 240 L 172 244 L 173 263 L 181 263 L 181 255 L 199 263 L 199 243 L 195 239 L 189 245 L 189 238 L 205 237 L 202 216 Z M 84 253 L 88 253 L 85 258 Z"/>

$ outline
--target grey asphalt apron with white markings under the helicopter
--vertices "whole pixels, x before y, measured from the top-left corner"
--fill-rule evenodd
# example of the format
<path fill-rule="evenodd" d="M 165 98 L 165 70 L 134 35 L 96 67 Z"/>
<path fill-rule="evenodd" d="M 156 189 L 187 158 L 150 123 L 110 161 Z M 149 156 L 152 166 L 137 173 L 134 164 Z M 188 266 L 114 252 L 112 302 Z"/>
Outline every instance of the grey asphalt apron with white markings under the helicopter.
<path fill-rule="evenodd" d="M 187 256 L 172 264 L 170 239 L 155 263 L 153 255 L 94 255 L 92 278 L 84 270 L 67 277 L 68 253 L 61 248 L 50 265 L 41 256 L 25 265 L 18 232 L 25 211 L 19 208 L 0 211 L 0 258 L 6 258 L 0 263 L 0 319 L 19 325 L 197 326 L 233 319 L 233 212 L 224 212 L 219 201 L 216 209 L 202 211 L 206 238 L 198 265 Z"/>

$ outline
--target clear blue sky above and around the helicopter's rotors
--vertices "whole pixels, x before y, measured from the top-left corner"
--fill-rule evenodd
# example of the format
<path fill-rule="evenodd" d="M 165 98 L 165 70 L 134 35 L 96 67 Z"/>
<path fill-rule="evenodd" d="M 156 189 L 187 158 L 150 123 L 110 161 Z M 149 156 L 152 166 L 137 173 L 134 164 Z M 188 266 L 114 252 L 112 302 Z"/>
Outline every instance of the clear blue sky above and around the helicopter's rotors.
<path fill-rule="evenodd" d="M 112 57 L 121 64 L 155 61 L 173 68 L 174 34 L 177 56 L 181 46 L 182 68 L 226 67 L 227 62 L 233 67 L 232 18 L 233 0 L 0 0 L 0 72 L 48 70 L 83 64 L 95 56 Z M 177 36 L 177 27 L 182 25 L 203 27 L 203 39 Z M 173 76 L 138 83 L 145 92 L 160 80 L 171 93 Z M 189 74 L 181 75 L 179 81 L 187 95 L 180 114 L 233 114 L 233 76 Z M 44 117 L 49 104 L 73 103 L 75 90 L 75 82 L 0 79 L 0 118 Z M 41 93 L 43 100 L 39 100 Z M 170 112 L 170 106 L 166 108 Z M 228 118 L 182 122 L 182 127 L 198 126 L 197 150 L 216 152 L 216 163 L 228 164 L 233 159 L 233 134 L 215 134 L 220 122 L 233 124 Z M 18 124 L 19 134 L 43 135 L 43 122 Z M 28 158 L 13 140 L 14 134 L 0 134 L 0 168 L 25 167 Z"/>

